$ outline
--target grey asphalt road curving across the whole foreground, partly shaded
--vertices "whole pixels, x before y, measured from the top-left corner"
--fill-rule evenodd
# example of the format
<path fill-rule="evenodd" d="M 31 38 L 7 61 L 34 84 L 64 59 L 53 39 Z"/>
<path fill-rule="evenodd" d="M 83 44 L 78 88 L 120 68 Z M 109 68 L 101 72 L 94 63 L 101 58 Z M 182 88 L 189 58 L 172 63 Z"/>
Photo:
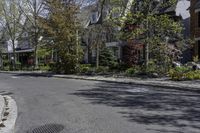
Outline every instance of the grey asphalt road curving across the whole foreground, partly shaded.
<path fill-rule="evenodd" d="M 16 133 L 200 133 L 200 94 L 0 73 Z"/>

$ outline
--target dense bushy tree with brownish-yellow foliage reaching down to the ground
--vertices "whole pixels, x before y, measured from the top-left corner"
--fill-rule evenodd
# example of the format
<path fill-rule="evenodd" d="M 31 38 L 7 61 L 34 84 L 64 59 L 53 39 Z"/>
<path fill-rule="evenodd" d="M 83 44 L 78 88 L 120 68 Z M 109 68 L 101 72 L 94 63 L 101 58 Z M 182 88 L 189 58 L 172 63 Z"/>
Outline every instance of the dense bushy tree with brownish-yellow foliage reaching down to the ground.
<path fill-rule="evenodd" d="M 48 17 L 40 18 L 40 23 L 49 38 L 49 43 L 52 44 L 50 47 L 58 54 L 59 60 L 56 65 L 65 73 L 73 73 L 82 59 L 77 39 L 79 6 L 75 1 L 60 3 L 46 0 L 45 8 L 48 10 Z"/>

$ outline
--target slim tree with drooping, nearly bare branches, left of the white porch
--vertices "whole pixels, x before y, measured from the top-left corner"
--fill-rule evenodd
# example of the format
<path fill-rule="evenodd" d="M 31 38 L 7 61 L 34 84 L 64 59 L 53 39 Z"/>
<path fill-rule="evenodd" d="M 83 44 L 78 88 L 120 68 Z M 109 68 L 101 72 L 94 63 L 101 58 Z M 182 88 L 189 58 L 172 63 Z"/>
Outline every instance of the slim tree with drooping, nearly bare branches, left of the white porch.
<path fill-rule="evenodd" d="M 114 29 L 109 21 L 107 21 L 107 14 L 105 15 L 106 10 L 108 9 L 107 0 L 99 0 L 96 4 L 96 12 L 98 12 L 98 16 L 96 16 L 97 22 L 90 25 L 86 29 L 86 32 L 89 34 L 92 49 L 96 50 L 96 67 L 98 68 L 100 65 L 101 49 L 105 47 L 105 43 L 108 41 L 107 38 L 113 35 Z"/>

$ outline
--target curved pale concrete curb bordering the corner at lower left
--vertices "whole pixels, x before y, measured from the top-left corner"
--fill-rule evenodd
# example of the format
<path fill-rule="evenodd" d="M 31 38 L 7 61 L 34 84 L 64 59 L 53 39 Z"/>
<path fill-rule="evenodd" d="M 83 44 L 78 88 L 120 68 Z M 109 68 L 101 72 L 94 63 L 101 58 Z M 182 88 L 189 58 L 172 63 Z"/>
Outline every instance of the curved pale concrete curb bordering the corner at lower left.
<path fill-rule="evenodd" d="M 5 109 L 2 120 L 5 127 L 0 127 L 0 133 L 14 133 L 17 119 L 17 104 L 10 96 L 4 96 L 4 99 Z"/>

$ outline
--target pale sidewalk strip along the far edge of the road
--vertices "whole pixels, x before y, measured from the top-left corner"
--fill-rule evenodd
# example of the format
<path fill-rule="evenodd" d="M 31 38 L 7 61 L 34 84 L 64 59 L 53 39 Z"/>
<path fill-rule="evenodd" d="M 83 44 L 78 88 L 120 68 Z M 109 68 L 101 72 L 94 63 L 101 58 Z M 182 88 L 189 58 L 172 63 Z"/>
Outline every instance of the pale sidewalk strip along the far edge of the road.
<path fill-rule="evenodd" d="M 144 85 L 144 86 L 154 86 L 154 87 L 165 87 L 171 89 L 181 89 L 185 91 L 196 91 L 200 92 L 200 80 L 195 81 L 172 81 L 169 78 L 130 78 L 130 77 L 115 77 L 115 76 L 80 76 L 80 75 L 63 75 L 63 74 L 51 74 L 45 72 L 3 72 L 0 73 L 11 73 L 11 74 L 28 74 L 35 76 L 48 76 L 55 78 L 68 78 L 68 79 L 81 79 L 81 80 L 94 80 L 94 81 L 104 81 L 112 83 L 124 83 L 124 84 L 134 84 L 134 85 Z"/>

